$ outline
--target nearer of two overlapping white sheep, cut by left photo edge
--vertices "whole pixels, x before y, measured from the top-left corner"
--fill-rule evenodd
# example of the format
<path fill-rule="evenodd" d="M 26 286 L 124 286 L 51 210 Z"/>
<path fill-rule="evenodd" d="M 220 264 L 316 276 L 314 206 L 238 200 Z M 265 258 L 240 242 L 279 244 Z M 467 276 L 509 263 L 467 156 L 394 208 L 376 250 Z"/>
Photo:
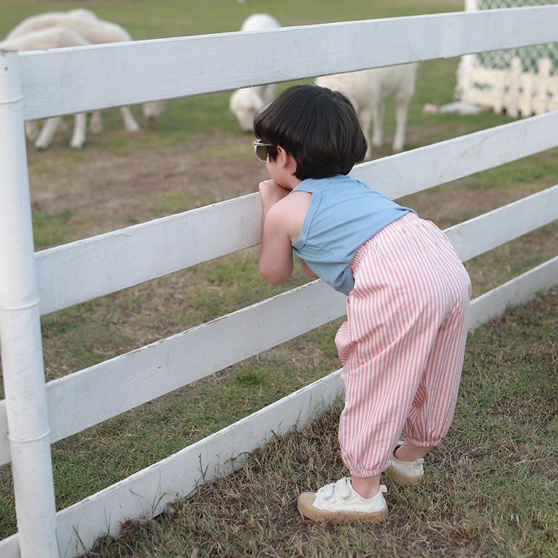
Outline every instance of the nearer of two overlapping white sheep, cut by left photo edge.
<path fill-rule="evenodd" d="M 0 48 L 15 50 L 18 52 L 37 49 L 56 49 L 61 47 L 83 47 L 89 44 L 81 35 L 63 27 L 51 27 L 37 31 L 28 32 L 25 35 L 12 37 L 0 42 Z M 73 134 L 70 146 L 73 148 L 83 147 L 85 143 L 85 129 L 87 127 L 87 114 L 76 114 L 73 126 Z M 25 131 L 31 139 L 37 138 L 35 147 L 46 149 L 54 138 L 62 119 L 60 117 L 49 118 L 44 123 L 41 133 L 38 133 L 35 122 L 26 122 Z M 38 136 L 38 137 L 37 137 Z"/>

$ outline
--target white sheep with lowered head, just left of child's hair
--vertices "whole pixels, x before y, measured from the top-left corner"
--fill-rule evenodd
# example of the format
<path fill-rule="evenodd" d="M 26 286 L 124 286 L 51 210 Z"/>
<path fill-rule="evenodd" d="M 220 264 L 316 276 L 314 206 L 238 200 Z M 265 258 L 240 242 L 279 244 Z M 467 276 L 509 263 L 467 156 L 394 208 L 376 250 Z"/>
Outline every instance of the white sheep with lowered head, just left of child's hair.
<path fill-rule="evenodd" d="M 241 31 L 261 31 L 264 29 L 280 28 L 281 24 L 267 13 L 253 13 L 242 23 Z M 235 91 L 230 97 L 230 112 L 237 117 L 242 131 L 254 129 L 254 117 L 256 112 L 266 102 L 271 101 L 275 95 L 275 83 L 259 85 Z"/>

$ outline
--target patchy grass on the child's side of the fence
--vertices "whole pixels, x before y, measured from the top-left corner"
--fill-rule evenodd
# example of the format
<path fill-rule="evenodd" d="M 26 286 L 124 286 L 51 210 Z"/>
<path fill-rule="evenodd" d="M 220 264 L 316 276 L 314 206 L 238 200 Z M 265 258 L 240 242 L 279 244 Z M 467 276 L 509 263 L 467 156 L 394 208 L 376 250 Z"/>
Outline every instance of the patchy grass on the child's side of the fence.
<path fill-rule="evenodd" d="M 156 520 L 126 523 L 120 538 L 100 540 L 90 556 L 189 556 L 194 549 L 201 557 L 551 556 L 558 544 L 557 316 L 554 290 L 470 336 L 449 435 L 427 456 L 425 485 L 402 489 L 387 480 L 386 523 L 327 526 L 297 513 L 299 492 L 347 475 L 336 407 Z M 263 372 L 275 371 L 239 372 L 230 382 L 255 396 L 273 381 Z M 221 410 L 218 388 L 210 393 Z"/>

